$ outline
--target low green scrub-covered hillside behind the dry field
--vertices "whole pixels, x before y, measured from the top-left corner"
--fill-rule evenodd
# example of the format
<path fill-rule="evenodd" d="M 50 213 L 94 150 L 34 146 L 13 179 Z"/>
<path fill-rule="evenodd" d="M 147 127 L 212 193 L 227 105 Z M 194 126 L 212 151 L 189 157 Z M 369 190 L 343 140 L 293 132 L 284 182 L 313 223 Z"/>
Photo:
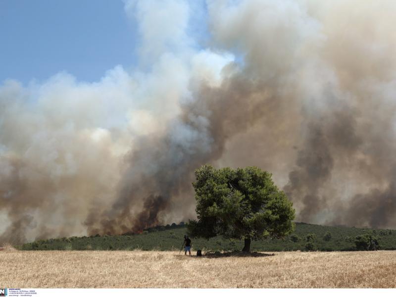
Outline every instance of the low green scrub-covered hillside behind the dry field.
<path fill-rule="evenodd" d="M 39 240 L 18 246 L 21 250 L 180 250 L 187 228 L 184 223 L 158 226 L 143 231 L 142 234 L 118 236 L 70 237 Z M 360 236 L 360 237 L 359 237 Z M 284 239 L 253 241 L 252 251 L 347 251 L 360 246 L 356 240 L 370 237 L 378 242 L 377 249 L 396 249 L 395 230 L 373 230 L 349 227 L 320 226 L 296 223 L 293 234 Z M 243 240 L 228 240 L 214 237 L 210 240 L 192 239 L 192 248 L 204 251 L 241 250 Z M 363 249 L 363 248 L 360 248 Z"/>

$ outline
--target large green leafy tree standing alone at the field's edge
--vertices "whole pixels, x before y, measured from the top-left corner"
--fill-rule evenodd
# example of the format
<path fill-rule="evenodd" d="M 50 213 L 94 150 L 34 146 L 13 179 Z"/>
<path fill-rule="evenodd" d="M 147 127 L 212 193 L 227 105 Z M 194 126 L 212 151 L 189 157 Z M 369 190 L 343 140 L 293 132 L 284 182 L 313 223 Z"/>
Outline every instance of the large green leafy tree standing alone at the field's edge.
<path fill-rule="evenodd" d="M 222 235 L 244 239 L 243 251 L 252 240 L 281 238 L 294 230 L 295 210 L 271 174 L 257 167 L 216 169 L 203 165 L 193 183 L 197 220 L 187 227 L 193 237 Z"/>

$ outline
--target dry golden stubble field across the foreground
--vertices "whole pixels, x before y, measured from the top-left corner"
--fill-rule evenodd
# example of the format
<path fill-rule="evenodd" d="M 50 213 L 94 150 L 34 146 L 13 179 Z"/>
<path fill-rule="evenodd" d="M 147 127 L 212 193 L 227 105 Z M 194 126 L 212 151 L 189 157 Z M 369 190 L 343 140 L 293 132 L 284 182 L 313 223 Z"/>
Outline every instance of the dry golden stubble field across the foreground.
<path fill-rule="evenodd" d="M 395 288 L 396 251 L 0 251 L 4 288 Z"/>

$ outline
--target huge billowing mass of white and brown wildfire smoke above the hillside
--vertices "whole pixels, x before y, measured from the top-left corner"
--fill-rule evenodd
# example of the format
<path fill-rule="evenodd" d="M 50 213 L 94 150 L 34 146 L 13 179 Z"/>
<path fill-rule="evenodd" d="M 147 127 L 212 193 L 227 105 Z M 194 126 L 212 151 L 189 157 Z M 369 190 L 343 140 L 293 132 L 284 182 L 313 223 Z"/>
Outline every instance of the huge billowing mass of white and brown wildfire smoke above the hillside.
<path fill-rule="evenodd" d="M 0 243 L 194 218 L 208 162 L 272 172 L 297 221 L 396 228 L 396 2 L 193 2 L 125 1 L 133 67 L 1 83 Z"/>

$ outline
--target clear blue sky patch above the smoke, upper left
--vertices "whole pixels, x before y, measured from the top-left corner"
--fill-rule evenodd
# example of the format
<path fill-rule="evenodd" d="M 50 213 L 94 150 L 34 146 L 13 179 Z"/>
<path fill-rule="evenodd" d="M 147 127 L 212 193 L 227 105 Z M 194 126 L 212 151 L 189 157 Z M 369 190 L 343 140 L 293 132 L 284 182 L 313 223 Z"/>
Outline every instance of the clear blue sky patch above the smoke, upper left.
<path fill-rule="evenodd" d="M 121 0 L 1 0 L 0 84 L 60 71 L 97 81 L 117 64 L 136 63 L 136 35 Z"/>

